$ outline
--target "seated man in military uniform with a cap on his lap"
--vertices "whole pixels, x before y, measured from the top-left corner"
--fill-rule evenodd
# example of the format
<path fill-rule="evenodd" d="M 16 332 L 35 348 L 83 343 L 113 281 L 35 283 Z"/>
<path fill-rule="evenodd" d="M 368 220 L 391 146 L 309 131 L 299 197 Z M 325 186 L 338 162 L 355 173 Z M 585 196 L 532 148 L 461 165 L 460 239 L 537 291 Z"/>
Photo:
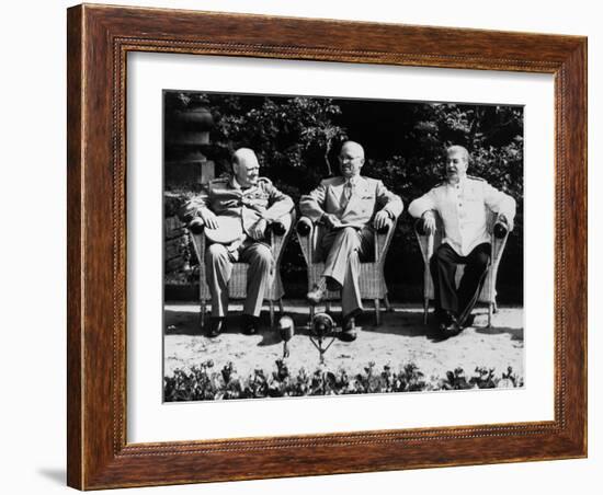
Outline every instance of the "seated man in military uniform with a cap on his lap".
<path fill-rule="evenodd" d="M 189 202 L 184 220 L 191 227 L 204 226 L 206 279 L 212 293 L 212 322 L 208 335 L 225 330 L 228 310 L 228 280 L 232 262 L 249 264 L 242 331 L 258 332 L 264 291 L 272 280 L 274 260 L 266 227 L 294 208 L 289 196 L 270 180 L 260 177 L 253 150 L 240 148 L 232 154 L 232 175 L 211 181 Z M 213 242 L 212 242 L 213 241 Z"/>

